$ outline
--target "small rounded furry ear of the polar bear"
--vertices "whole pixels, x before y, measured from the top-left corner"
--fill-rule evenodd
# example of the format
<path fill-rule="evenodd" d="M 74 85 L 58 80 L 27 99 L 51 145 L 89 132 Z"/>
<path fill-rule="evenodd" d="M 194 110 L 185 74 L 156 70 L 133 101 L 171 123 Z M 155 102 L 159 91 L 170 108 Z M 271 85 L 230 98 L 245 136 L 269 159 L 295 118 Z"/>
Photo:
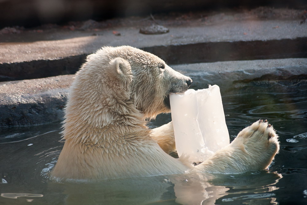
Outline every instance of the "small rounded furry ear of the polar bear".
<path fill-rule="evenodd" d="M 110 61 L 109 74 L 125 82 L 132 81 L 131 66 L 129 62 L 123 58 L 118 57 Z"/>

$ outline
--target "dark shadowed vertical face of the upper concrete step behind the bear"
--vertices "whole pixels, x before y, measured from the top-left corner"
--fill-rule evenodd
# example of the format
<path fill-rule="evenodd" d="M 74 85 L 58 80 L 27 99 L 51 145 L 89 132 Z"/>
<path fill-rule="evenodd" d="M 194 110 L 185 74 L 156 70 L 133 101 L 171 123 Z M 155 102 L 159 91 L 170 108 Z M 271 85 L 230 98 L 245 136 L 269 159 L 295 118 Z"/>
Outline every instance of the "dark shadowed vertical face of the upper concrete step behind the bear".
<path fill-rule="evenodd" d="M 306 58 L 307 37 L 269 41 L 203 42 L 140 48 L 168 64 L 255 59 Z M 0 64 L 0 81 L 74 74 L 90 53 L 53 60 Z"/>

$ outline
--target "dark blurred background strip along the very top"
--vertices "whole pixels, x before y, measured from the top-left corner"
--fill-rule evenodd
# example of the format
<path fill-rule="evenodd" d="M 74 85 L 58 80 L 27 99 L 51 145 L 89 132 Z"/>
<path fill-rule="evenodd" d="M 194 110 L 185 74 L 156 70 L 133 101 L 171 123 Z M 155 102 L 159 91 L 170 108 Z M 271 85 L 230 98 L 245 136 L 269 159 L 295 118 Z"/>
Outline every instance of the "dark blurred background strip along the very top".
<path fill-rule="evenodd" d="M 32 27 L 47 23 L 95 21 L 174 11 L 255 8 L 305 9 L 305 0 L 0 0 L 0 28 Z"/>

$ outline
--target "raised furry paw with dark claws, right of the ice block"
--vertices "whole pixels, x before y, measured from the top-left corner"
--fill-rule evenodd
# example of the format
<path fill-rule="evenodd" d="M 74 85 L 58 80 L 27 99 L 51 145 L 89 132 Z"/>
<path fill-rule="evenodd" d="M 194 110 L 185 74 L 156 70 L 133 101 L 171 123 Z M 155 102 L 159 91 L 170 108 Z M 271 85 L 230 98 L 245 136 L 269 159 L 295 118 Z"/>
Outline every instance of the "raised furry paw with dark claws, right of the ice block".
<path fill-rule="evenodd" d="M 266 169 L 279 151 L 278 135 L 267 120 L 243 129 L 231 144 L 242 151 L 247 169 Z"/>

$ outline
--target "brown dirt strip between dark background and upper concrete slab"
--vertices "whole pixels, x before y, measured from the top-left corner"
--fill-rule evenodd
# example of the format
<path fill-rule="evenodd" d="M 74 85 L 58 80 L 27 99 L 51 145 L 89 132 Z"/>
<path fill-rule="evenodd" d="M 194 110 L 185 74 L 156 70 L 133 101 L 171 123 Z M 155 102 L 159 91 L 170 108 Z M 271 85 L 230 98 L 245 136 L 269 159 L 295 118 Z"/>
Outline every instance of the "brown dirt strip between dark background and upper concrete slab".
<path fill-rule="evenodd" d="M 142 29 L 146 26 L 209 26 L 213 24 L 245 21 L 245 20 L 297 20 L 300 24 L 306 22 L 307 11 L 295 9 L 274 9 L 258 7 L 256 9 L 228 9 L 217 11 L 197 12 L 170 12 L 165 14 L 149 15 L 147 17 L 132 16 L 127 18 L 113 18 L 105 21 L 76 21 L 64 25 L 45 24 L 35 28 L 20 26 L 5 27 L 0 30 L 0 42 L 30 42 L 60 40 L 65 38 L 80 37 L 83 33 L 92 32 L 99 36 L 100 31 L 110 29 L 114 35 L 121 35 L 112 30 L 116 27 L 135 27 Z M 76 32 L 77 31 L 77 32 Z"/>

